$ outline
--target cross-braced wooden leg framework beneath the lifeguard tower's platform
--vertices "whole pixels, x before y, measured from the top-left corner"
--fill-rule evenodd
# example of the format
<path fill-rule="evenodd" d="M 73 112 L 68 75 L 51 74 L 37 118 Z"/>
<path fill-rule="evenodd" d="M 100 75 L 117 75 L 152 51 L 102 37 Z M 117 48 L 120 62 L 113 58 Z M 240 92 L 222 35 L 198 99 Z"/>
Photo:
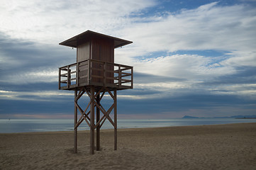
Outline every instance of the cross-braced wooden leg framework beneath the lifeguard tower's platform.
<path fill-rule="evenodd" d="M 104 97 L 105 93 L 113 99 L 112 105 L 106 111 L 103 106 L 101 106 L 101 99 Z M 87 107 L 83 110 L 78 104 L 79 98 L 86 93 L 90 101 Z M 102 93 L 102 94 L 101 94 Z M 100 128 L 104 124 L 105 120 L 108 120 L 114 127 L 114 150 L 117 150 L 117 94 L 116 89 L 113 89 L 113 93 L 109 91 L 107 87 L 102 87 L 100 90 L 95 89 L 95 86 L 90 86 L 90 90 L 77 89 L 74 91 L 74 152 L 77 153 L 77 128 L 79 125 L 85 121 L 90 128 L 90 154 L 94 154 L 94 140 L 95 140 L 95 129 L 96 129 L 96 150 L 100 150 Z M 87 110 L 89 111 L 87 112 Z M 77 112 L 81 113 L 79 120 L 77 120 Z M 96 111 L 96 123 L 94 120 L 94 113 Z M 111 119 L 111 112 L 113 113 L 113 120 Z M 101 117 L 101 113 L 103 114 Z"/>

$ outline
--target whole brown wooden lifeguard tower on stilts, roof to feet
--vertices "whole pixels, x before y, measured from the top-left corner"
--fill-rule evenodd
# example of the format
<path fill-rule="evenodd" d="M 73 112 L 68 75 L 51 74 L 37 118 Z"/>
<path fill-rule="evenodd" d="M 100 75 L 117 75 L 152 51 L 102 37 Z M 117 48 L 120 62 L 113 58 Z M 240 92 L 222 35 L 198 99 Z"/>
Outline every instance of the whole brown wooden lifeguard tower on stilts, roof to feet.
<path fill-rule="evenodd" d="M 77 153 L 77 128 L 85 121 L 90 128 L 90 153 L 94 154 L 94 130 L 96 150 L 100 149 L 100 129 L 105 120 L 114 128 L 114 149 L 117 149 L 116 91 L 133 89 L 133 67 L 114 63 L 114 49 L 132 43 L 87 30 L 69 38 L 60 45 L 77 48 L 77 62 L 59 68 L 59 89 L 74 91 L 74 152 Z M 84 94 L 89 97 L 82 109 L 78 101 Z M 109 94 L 113 104 L 101 105 L 104 94 Z M 85 105 L 86 106 L 86 105 Z M 81 113 L 79 120 L 77 111 Z M 113 113 L 113 120 L 110 116 Z M 96 113 L 96 122 L 94 120 Z"/>

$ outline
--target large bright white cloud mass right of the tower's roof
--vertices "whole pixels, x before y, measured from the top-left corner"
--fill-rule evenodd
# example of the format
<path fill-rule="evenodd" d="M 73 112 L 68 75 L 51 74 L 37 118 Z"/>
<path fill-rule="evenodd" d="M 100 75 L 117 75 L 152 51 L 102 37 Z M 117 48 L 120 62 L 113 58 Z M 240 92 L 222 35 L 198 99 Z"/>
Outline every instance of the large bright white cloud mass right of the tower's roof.
<path fill-rule="evenodd" d="M 237 72 L 236 67 L 256 66 L 255 16 L 253 7 L 243 4 L 220 6 L 214 2 L 169 15 L 165 13 L 162 17 L 151 16 L 147 22 L 144 22 L 144 18 L 138 18 L 137 22 L 121 30 L 125 37 L 133 40 L 133 45 L 122 49 L 122 52 L 118 50 L 116 54 L 123 56 L 120 60 L 126 61 L 128 56 L 143 56 L 144 61 L 137 62 L 136 58 L 128 61 L 135 62 L 138 72 L 152 73 L 149 68 L 154 68 L 155 74 L 165 76 L 172 73 L 187 74 L 186 70 L 193 73 L 187 74 L 188 77 L 198 76 L 200 72 L 213 77 L 234 74 Z M 221 55 L 215 58 L 204 54 L 189 55 L 193 50 L 203 53 L 204 50 L 212 50 Z M 162 55 L 151 55 L 159 51 Z M 177 55 L 171 56 L 174 52 L 179 55 L 180 51 L 188 51 L 187 57 L 181 55 L 179 59 Z M 175 57 L 176 61 L 171 60 Z M 186 58 L 185 62 L 179 62 L 182 58 Z M 189 67 L 188 63 L 191 63 Z M 148 64 L 154 64 L 154 67 L 146 66 Z M 194 69 L 191 70 L 192 64 Z M 165 69 L 168 66 L 179 68 L 175 72 L 174 69 Z M 180 72 L 182 67 L 184 69 Z"/>

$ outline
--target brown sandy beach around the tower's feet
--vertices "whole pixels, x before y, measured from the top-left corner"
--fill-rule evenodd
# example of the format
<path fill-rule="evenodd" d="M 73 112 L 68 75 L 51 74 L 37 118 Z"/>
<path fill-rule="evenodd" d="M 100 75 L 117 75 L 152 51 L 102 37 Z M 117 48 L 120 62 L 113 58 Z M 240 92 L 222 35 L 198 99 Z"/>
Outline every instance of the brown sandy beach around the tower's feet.
<path fill-rule="evenodd" d="M 89 132 L 0 134 L 0 169 L 256 169 L 256 123 L 101 130 L 89 154 Z"/>

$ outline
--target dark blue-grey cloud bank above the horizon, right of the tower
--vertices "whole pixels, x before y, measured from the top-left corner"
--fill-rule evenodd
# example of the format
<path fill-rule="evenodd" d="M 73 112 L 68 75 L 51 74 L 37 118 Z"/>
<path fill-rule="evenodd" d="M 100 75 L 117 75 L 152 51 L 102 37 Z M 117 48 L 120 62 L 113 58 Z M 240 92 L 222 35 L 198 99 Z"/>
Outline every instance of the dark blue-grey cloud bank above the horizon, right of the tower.
<path fill-rule="evenodd" d="M 132 106 L 132 108 L 131 108 Z M 255 113 L 255 103 L 233 95 L 185 94 L 145 98 L 144 100 L 118 99 L 118 114 L 122 118 L 182 118 L 184 115 L 202 117 Z"/>

